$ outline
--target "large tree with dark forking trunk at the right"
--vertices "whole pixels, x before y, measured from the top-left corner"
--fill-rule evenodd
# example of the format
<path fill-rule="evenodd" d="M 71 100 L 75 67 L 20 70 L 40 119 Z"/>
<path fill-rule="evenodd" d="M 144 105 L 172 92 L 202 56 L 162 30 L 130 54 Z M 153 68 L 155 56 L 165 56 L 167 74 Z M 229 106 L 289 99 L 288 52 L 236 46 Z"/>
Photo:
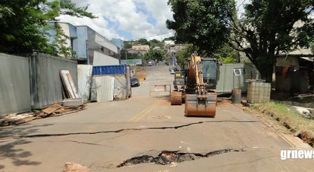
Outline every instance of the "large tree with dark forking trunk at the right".
<path fill-rule="evenodd" d="M 252 0 L 245 6 L 243 19 L 233 19 L 232 37 L 236 50 L 246 53 L 262 74 L 271 82 L 276 55 L 297 48 L 309 47 L 314 39 L 313 0 Z M 245 46 L 243 46 L 245 43 Z"/>

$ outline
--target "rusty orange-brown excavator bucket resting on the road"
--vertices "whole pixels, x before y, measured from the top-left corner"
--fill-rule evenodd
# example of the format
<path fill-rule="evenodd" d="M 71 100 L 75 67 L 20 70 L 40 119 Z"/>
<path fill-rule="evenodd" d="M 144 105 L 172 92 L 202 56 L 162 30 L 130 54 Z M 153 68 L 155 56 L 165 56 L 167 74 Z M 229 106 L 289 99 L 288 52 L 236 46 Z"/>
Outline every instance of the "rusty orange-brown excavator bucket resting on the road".
<path fill-rule="evenodd" d="M 197 94 L 186 94 L 186 116 L 215 117 L 217 94 L 210 93 L 206 98 L 198 98 Z"/>

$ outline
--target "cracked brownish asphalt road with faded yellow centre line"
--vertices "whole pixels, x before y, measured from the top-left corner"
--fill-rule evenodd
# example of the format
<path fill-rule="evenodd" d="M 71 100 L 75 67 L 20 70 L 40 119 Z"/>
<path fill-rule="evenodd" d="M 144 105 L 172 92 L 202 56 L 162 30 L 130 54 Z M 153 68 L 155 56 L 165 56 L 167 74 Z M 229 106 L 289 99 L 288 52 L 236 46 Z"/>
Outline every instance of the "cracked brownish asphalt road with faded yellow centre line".
<path fill-rule="evenodd" d="M 90 103 L 75 114 L 0 130 L 0 171 L 63 171 L 77 162 L 92 171 L 312 171 L 313 160 L 281 160 L 282 149 L 310 149 L 242 107 L 217 107 L 215 118 L 186 118 L 184 105 L 151 85 L 173 83 L 167 67 L 148 67 L 147 79 L 124 101 Z M 228 151 L 178 164 L 133 164 L 130 158 L 161 151 Z M 238 150 L 238 151 L 230 151 Z M 198 155 L 198 154 L 197 154 Z M 188 160 L 188 158 L 186 158 Z"/>

